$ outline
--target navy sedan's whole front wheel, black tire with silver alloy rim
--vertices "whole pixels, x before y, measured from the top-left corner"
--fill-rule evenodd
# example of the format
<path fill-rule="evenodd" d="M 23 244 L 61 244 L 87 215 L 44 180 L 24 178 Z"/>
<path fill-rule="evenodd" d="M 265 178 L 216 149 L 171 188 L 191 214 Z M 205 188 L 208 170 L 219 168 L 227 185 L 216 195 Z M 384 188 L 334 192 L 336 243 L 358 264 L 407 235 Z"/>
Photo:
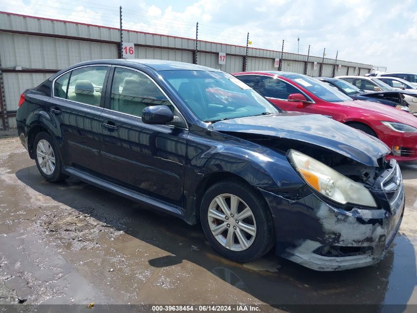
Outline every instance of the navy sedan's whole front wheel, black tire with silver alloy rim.
<path fill-rule="evenodd" d="M 239 180 L 224 180 L 206 191 L 200 222 L 214 249 L 236 262 L 262 257 L 275 242 L 272 215 L 265 199 Z"/>

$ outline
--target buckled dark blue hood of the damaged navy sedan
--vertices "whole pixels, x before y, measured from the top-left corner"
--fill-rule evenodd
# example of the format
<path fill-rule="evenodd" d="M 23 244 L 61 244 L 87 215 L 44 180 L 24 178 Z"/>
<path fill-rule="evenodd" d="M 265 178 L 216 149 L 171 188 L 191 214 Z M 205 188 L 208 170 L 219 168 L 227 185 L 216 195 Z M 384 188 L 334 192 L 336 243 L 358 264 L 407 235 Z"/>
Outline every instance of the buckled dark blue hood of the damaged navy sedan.
<path fill-rule="evenodd" d="M 415 118 L 415 117 L 414 117 Z M 379 139 L 316 114 L 284 112 L 216 122 L 214 131 L 299 140 L 340 153 L 368 166 L 390 152 Z"/>

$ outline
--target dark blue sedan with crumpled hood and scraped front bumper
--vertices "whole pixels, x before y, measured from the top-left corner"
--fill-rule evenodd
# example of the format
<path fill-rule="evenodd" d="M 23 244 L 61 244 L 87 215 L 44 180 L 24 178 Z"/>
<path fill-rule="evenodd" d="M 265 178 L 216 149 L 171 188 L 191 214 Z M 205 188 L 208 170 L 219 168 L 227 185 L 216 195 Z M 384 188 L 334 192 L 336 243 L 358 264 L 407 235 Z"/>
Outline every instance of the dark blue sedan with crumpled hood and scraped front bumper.
<path fill-rule="evenodd" d="M 317 270 L 368 266 L 403 216 L 401 172 L 385 144 L 282 111 L 203 66 L 76 64 L 26 90 L 16 120 L 46 180 L 72 176 L 200 221 L 214 249 L 238 262 L 275 247 Z"/>

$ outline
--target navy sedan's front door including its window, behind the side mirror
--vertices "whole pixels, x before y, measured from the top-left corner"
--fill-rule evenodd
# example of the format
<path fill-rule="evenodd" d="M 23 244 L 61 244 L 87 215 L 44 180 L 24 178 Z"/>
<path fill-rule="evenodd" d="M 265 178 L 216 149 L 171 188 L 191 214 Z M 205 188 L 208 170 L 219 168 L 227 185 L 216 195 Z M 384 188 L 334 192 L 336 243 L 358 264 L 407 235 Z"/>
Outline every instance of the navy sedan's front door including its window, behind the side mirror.
<path fill-rule="evenodd" d="M 129 188 L 182 204 L 188 131 L 142 122 L 149 105 L 172 103 L 145 74 L 114 67 L 101 115 L 103 173 Z"/>

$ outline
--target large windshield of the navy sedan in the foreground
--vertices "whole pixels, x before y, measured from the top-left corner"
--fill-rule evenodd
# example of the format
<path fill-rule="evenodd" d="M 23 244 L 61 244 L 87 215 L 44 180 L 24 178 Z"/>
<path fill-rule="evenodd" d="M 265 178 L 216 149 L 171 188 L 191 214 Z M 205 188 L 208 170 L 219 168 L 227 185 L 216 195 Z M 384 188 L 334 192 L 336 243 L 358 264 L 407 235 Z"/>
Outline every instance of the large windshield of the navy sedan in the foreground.
<path fill-rule="evenodd" d="M 160 71 L 204 122 L 281 112 L 258 92 L 224 72 Z"/>

